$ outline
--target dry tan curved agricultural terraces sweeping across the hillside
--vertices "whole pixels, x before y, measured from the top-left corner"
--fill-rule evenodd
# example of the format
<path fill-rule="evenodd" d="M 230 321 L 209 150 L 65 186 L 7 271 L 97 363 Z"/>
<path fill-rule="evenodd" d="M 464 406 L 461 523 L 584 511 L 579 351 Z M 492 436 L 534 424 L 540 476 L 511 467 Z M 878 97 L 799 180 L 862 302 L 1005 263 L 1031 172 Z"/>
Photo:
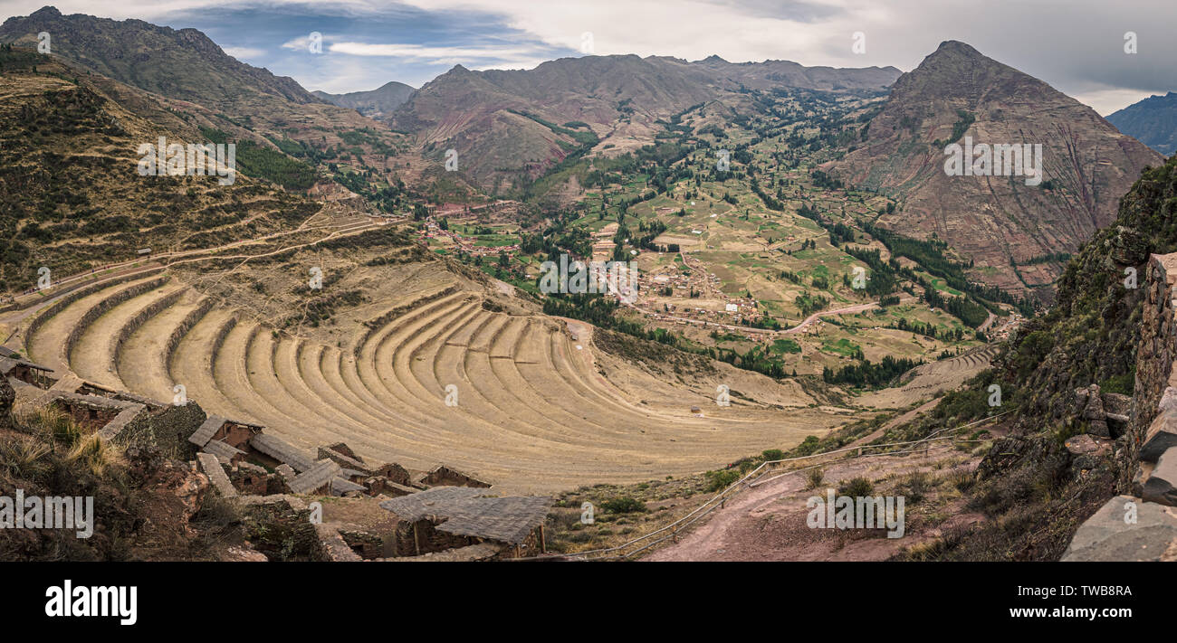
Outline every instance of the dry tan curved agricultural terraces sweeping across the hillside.
<path fill-rule="evenodd" d="M 124 275 L 0 322 L 16 330 L 12 348 L 59 374 L 162 401 L 182 384 L 207 413 L 298 447 L 343 441 L 510 491 L 697 473 L 849 418 L 791 382 L 718 362 L 700 374 L 634 366 L 600 350 L 588 324 L 484 306 L 503 296 L 493 284 L 377 302 L 381 314 L 328 342 L 279 333 L 184 279 Z M 731 406 L 716 403 L 718 384 Z"/>

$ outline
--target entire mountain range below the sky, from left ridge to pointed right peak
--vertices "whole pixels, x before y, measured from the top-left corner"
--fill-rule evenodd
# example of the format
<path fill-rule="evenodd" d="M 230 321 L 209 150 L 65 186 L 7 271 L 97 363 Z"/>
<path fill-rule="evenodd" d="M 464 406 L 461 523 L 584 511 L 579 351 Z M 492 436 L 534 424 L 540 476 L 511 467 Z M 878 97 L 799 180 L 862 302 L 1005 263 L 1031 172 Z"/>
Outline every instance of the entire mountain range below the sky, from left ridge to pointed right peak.
<path fill-rule="evenodd" d="M 895 67 L 603 55 L 528 71 L 459 65 L 417 91 L 390 82 L 334 95 L 241 63 L 195 29 L 139 20 L 46 7 L 7 20 L 0 42 L 33 45 L 40 31 L 53 33 L 54 58 L 92 73 L 93 82 L 157 125 L 175 125 L 179 114 L 189 130 L 224 132 L 317 167 L 315 181 L 345 172 L 343 159 L 352 192 L 374 194 L 403 180 L 433 199 L 465 199 L 472 189 L 517 193 L 572 158 L 617 156 L 653 143 L 676 114 L 700 105 L 739 118 L 756 109 L 756 92 L 882 96 L 890 89 L 862 141 L 826 169 L 898 202 L 877 223 L 946 241 L 975 263 L 973 279 L 1020 294 L 1049 296 L 1062 269 L 1051 257 L 1109 223 L 1119 195 L 1144 167 L 1162 161 L 1086 106 L 955 41 L 905 74 Z M 945 146 L 969 139 L 1042 145 L 1043 181 L 947 176 Z M 458 172 L 439 174 L 450 150 Z M 337 159 L 330 169 L 328 156 Z M 473 188 L 443 196 L 439 176 Z M 306 188 L 287 187 L 294 185 Z"/>

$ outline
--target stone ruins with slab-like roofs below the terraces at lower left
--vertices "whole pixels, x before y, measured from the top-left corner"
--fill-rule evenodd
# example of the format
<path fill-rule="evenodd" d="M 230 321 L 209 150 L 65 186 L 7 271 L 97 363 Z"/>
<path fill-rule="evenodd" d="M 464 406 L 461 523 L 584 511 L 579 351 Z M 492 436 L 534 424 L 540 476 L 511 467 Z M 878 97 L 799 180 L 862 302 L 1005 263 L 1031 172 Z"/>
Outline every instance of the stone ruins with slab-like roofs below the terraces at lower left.
<path fill-rule="evenodd" d="M 58 376 L 2 347 L 0 371 L 32 408 L 65 413 L 122 448 L 158 448 L 187 461 L 219 495 L 285 524 L 292 545 L 319 560 L 480 561 L 546 549 L 548 497 L 496 497 L 486 491 L 491 483 L 445 464 L 415 474 L 394 462 L 371 464 L 343 442 L 305 451 L 260 424 L 207 415 L 194 401 L 167 404 Z M 374 497 L 395 528 L 381 536 L 314 524 L 301 496 Z"/>

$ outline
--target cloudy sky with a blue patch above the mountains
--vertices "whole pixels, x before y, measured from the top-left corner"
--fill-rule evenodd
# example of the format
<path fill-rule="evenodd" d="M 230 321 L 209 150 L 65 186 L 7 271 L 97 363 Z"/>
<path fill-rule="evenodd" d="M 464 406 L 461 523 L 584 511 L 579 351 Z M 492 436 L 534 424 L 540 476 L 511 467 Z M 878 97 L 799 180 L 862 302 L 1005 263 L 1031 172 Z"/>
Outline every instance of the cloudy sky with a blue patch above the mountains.
<path fill-rule="evenodd" d="M 0 19 L 45 0 L 0 0 Z M 943 40 L 1108 114 L 1177 91 L 1175 0 L 59 0 L 62 13 L 198 28 L 308 89 L 419 87 L 454 65 L 531 68 L 596 54 L 909 71 Z M 865 53 L 852 48 L 860 32 Z M 1125 53 L 1135 33 L 1136 54 Z M 321 53 L 310 51 L 312 33 Z"/>

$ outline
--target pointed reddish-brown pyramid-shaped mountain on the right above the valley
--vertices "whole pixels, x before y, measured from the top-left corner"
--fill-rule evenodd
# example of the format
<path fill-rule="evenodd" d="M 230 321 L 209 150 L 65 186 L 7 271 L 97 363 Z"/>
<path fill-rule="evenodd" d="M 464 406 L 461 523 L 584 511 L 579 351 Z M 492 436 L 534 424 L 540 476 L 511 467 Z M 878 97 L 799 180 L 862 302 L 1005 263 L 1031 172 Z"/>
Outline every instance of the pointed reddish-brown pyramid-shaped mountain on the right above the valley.
<path fill-rule="evenodd" d="M 1036 185 L 1024 176 L 949 176 L 945 147 L 967 139 L 1042 145 L 1045 176 Z M 978 281 L 1025 294 L 1062 272 L 1042 257 L 1073 252 L 1110 223 L 1141 170 L 1162 161 L 1090 107 L 946 41 L 896 81 L 863 143 L 827 169 L 899 201 L 880 225 L 936 235 L 976 262 Z"/>

